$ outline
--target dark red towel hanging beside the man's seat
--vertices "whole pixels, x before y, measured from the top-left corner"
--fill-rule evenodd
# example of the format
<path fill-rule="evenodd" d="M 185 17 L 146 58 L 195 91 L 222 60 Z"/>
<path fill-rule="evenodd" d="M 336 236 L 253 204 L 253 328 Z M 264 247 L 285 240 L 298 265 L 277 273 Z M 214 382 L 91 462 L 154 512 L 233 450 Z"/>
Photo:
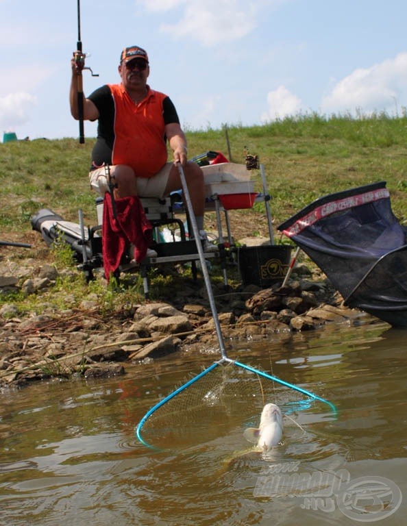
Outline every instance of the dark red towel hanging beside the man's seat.
<path fill-rule="evenodd" d="M 119 268 L 121 258 L 130 245 L 134 245 L 134 259 L 140 263 L 153 240 L 153 227 L 136 195 L 115 199 L 114 204 L 116 218 L 113 214 L 112 198 L 106 192 L 102 223 L 103 268 L 106 279 Z"/>

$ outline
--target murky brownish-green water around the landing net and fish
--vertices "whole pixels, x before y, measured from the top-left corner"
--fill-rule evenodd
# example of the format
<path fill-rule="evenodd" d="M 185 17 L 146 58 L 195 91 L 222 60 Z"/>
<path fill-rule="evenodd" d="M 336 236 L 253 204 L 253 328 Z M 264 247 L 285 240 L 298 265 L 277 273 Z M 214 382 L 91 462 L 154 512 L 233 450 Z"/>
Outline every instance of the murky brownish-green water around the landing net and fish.
<path fill-rule="evenodd" d="M 243 388 L 241 396 L 234 390 L 214 406 L 208 403 L 214 391 L 205 387 L 210 396 L 190 426 L 175 405 L 163 451 L 135 437 L 145 412 L 216 353 L 199 360 L 169 356 L 127 368 L 120 378 L 5 392 L 0 524 L 349 525 L 379 518 L 404 525 L 406 337 L 405 330 L 362 321 L 229 351 L 230 358 L 336 405 L 334 415 L 324 403 L 303 404 L 291 390 L 273 385 L 270 392 L 267 385 L 266 401 L 277 401 L 302 426 L 287 420 L 284 445 L 268 459 L 251 452 L 243 438 L 245 425 L 258 424 L 262 405 Z M 182 432 L 175 434 L 177 427 Z M 157 439 L 147 424 L 143 432 Z M 353 492 L 341 493 L 345 481 Z"/>

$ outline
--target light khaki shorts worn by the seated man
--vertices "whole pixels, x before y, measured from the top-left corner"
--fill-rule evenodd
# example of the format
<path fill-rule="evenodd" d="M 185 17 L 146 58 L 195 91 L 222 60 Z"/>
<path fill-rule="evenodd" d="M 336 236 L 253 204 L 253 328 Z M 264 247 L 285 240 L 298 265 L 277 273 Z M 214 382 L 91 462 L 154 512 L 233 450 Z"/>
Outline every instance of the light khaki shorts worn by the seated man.
<path fill-rule="evenodd" d="M 169 173 L 173 167 L 172 162 L 167 162 L 161 170 L 152 177 L 136 177 L 137 195 L 140 197 L 165 197 L 164 192 L 167 187 Z M 112 170 L 113 166 L 110 166 Z M 102 197 L 109 191 L 108 179 L 104 166 L 89 172 L 90 188 L 95 190 Z"/>

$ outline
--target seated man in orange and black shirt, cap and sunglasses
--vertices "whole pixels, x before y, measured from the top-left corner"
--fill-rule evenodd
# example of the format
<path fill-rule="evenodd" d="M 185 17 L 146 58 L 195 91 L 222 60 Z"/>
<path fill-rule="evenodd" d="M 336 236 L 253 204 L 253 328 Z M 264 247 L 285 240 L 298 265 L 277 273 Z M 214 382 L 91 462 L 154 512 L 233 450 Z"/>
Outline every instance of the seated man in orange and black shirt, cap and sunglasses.
<path fill-rule="evenodd" d="M 114 198 L 166 197 L 182 188 L 177 163 L 184 168 L 199 236 L 204 251 L 216 251 L 204 230 L 204 175 L 187 160 L 186 137 L 171 99 L 147 84 L 149 58 L 138 47 L 125 47 L 120 55 L 120 84 L 105 84 L 87 98 L 79 114 L 77 79 L 84 68 L 84 54 L 75 51 L 72 66 L 70 105 L 73 118 L 98 120 L 97 141 L 92 153 L 90 186 L 100 195 L 109 191 L 105 165 L 114 182 Z M 82 111 L 82 108 L 81 108 Z M 173 151 L 168 162 L 167 141 Z"/>

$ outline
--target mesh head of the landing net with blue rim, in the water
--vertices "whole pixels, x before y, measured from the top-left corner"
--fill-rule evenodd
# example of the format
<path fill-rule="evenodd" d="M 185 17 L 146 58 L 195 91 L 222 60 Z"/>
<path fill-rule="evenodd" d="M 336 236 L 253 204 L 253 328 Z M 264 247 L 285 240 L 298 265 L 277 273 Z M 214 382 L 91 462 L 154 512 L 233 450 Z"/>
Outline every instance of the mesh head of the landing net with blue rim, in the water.
<path fill-rule="evenodd" d="M 175 389 L 175 395 L 171 393 L 146 414 L 136 431 L 141 442 L 156 449 L 184 449 L 217 440 L 234 429 L 243 434 L 245 427 L 258 427 L 266 403 L 276 403 L 286 414 L 314 403 L 303 393 L 234 362 L 215 363 L 209 369 L 187 379 L 180 392 Z"/>

